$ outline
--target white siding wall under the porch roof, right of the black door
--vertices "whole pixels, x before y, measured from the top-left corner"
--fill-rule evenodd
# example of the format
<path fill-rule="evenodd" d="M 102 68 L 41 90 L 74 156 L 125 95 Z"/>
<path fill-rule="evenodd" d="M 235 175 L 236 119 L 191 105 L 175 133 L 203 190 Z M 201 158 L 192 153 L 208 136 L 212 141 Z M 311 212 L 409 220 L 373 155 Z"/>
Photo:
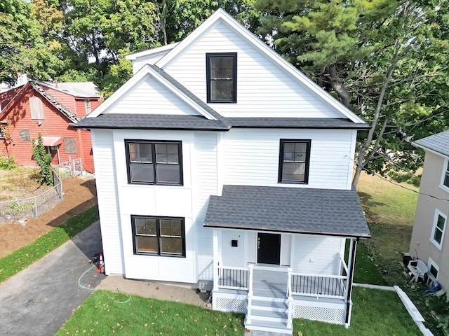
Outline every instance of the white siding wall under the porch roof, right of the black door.
<path fill-rule="evenodd" d="M 344 253 L 345 239 L 319 235 L 293 235 L 293 253 L 290 267 L 293 272 L 305 274 L 338 274 L 340 254 Z"/>

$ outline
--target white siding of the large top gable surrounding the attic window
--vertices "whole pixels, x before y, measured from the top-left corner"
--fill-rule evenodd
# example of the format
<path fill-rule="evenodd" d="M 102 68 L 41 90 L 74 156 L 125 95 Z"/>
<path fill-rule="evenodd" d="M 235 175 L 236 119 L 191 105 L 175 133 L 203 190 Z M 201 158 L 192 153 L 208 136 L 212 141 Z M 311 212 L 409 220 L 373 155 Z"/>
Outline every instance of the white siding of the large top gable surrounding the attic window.
<path fill-rule="evenodd" d="M 206 52 L 237 52 L 237 103 L 210 104 L 222 116 L 342 117 L 222 22 L 163 69 L 206 102 Z"/>

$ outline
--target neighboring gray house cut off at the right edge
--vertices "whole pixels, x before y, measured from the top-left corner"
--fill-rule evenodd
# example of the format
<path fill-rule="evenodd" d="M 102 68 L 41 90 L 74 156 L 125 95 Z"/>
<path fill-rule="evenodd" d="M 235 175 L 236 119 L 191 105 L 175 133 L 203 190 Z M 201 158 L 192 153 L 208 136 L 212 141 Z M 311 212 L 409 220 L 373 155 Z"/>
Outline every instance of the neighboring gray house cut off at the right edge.
<path fill-rule="evenodd" d="M 413 144 L 426 156 L 410 255 L 426 262 L 430 278 L 449 290 L 449 130 Z"/>

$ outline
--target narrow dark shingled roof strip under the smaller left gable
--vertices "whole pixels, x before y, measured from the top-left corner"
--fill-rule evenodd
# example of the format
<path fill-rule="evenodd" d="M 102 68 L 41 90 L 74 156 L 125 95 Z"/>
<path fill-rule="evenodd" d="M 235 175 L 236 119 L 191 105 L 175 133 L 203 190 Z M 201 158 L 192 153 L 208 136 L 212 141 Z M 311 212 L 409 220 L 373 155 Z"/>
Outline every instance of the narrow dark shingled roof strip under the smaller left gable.
<path fill-rule="evenodd" d="M 106 113 L 96 118 L 83 118 L 76 128 L 128 129 L 128 130 L 213 130 L 227 131 L 220 120 L 203 116 L 172 114 Z"/>

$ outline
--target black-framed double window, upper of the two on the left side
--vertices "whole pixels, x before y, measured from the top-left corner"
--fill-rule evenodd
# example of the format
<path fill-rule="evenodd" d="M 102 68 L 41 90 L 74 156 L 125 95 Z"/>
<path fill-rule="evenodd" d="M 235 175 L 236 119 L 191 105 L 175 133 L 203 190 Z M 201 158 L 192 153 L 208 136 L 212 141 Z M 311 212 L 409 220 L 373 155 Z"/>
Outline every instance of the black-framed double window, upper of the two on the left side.
<path fill-rule="evenodd" d="M 182 186 L 181 141 L 126 140 L 128 183 Z"/>

